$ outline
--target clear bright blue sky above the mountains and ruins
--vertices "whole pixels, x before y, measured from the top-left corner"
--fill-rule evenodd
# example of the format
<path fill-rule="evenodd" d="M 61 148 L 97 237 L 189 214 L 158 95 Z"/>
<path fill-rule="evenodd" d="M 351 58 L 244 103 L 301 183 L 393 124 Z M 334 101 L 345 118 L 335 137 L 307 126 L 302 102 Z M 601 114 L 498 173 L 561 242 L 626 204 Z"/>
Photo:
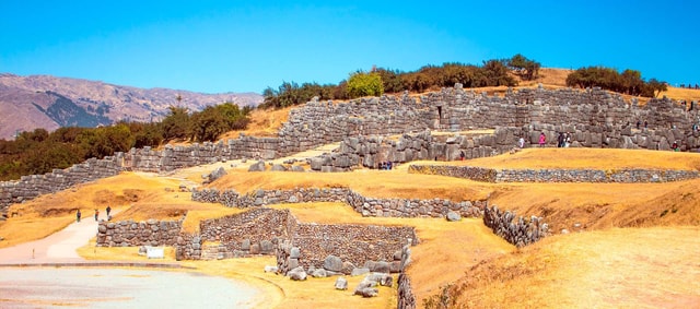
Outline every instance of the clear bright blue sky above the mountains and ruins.
<path fill-rule="evenodd" d="M 0 0 L 0 72 L 205 93 L 510 58 L 700 84 L 700 1 Z"/>

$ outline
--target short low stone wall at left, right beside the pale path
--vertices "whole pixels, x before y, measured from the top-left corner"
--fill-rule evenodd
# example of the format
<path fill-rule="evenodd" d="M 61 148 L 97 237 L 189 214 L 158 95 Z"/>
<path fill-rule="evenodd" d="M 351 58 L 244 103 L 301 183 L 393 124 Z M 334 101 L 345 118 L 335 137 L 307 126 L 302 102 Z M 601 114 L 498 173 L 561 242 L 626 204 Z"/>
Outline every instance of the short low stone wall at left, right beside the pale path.
<path fill-rule="evenodd" d="M 183 221 L 106 222 L 97 226 L 97 247 L 175 246 Z"/>

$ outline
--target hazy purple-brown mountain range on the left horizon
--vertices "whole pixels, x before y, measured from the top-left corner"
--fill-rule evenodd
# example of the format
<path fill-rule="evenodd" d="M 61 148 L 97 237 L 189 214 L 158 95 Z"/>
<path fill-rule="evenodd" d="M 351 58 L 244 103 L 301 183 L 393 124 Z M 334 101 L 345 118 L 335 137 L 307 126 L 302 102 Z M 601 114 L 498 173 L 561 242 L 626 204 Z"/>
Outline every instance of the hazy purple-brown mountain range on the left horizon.
<path fill-rule="evenodd" d="M 224 102 L 255 107 L 262 103 L 262 96 L 144 90 L 50 75 L 0 73 L 0 139 L 14 139 L 16 132 L 38 128 L 50 132 L 60 127 L 107 126 L 120 120 L 160 121 L 171 106 L 199 111 Z"/>

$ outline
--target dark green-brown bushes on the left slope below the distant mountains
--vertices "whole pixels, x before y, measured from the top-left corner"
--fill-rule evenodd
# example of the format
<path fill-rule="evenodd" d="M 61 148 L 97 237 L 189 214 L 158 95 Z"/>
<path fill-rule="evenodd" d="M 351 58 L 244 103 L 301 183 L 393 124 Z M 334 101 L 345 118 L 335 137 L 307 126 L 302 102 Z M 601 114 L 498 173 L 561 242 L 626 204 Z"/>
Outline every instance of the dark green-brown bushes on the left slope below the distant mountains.
<path fill-rule="evenodd" d="M 171 107 L 161 122 L 126 122 L 98 128 L 59 128 L 21 132 L 14 140 L 0 140 L 0 180 L 40 175 L 68 168 L 91 157 L 102 158 L 131 147 L 159 146 L 170 140 L 214 141 L 224 132 L 245 129 L 249 107 L 226 103 L 202 111 Z"/>

